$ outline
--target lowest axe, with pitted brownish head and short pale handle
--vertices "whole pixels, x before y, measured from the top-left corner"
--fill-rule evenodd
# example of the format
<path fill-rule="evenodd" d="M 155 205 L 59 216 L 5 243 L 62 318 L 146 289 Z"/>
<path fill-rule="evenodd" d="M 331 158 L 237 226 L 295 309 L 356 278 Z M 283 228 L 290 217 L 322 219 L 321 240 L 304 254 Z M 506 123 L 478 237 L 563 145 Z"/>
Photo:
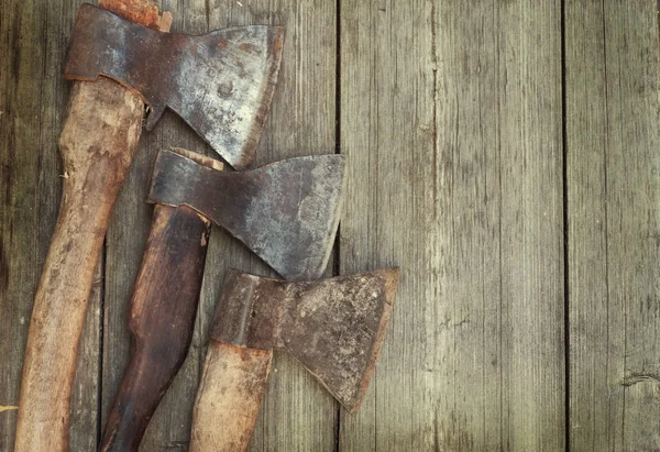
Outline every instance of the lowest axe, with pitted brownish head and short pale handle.
<path fill-rule="evenodd" d="M 195 399 L 190 452 L 248 448 L 273 349 L 290 353 L 355 412 L 389 323 L 398 274 L 285 282 L 230 271 Z"/>

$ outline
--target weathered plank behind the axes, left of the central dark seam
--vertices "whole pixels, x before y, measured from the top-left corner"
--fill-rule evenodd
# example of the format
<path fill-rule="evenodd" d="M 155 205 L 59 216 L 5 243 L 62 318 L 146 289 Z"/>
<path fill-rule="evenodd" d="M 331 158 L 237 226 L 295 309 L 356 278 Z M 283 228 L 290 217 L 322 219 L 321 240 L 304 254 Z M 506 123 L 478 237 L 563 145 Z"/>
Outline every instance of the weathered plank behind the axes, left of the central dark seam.
<path fill-rule="evenodd" d="M 241 24 L 286 27 L 284 63 L 257 165 L 334 151 L 334 5 L 321 0 L 165 1 L 173 31 L 204 33 Z M 108 235 L 103 335 L 103 414 L 110 408 L 129 359 L 125 312 L 148 232 L 151 208 L 144 205 L 155 150 L 182 146 L 213 152 L 172 113 L 143 139 L 124 185 Z M 229 267 L 273 275 L 242 244 L 215 228 L 190 352 L 147 429 L 141 450 L 187 450 L 190 414 L 206 355 L 208 327 Z M 276 355 L 262 417 L 251 450 L 329 450 L 334 444 L 337 405 L 293 359 Z"/>

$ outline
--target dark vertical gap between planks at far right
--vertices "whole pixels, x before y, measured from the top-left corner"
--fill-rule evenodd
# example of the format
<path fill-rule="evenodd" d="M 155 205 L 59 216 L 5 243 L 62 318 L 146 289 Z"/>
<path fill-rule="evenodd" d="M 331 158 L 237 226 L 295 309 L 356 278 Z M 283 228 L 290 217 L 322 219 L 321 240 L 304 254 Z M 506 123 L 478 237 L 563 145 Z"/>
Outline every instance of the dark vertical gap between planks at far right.
<path fill-rule="evenodd" d="M 569 272 L 569 186 L 568 186 L 568 124 L 566 124 L 566 30 L 565 0 L 561 0 L 561 135 L 563 185 L 563 299 L 564 299 L 564 449 L 571 450 L 571 331 L 570 331 L 570 272 Z"/>

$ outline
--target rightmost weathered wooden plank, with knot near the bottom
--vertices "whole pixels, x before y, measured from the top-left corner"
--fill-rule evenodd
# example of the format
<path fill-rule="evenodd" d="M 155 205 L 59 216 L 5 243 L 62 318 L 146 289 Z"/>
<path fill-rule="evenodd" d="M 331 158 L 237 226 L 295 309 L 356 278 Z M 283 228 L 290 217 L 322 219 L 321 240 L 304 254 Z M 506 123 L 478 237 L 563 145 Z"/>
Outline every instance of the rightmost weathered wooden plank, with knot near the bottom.
<path fill-rule="evenodd" d="M 660 449 L 653 2 L 568 1 L 570 426 L 576 451 Z"/>

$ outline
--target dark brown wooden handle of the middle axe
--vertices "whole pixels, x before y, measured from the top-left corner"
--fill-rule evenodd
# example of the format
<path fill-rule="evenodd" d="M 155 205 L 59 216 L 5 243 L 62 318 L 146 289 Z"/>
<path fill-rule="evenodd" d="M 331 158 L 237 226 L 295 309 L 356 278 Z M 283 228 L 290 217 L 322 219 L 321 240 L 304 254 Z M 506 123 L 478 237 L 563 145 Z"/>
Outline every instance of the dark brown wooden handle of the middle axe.
<path fill-rule="evenodd" d="M 201 289 L 210 222 L 188 207 L 156 205 L 133 289 L 135 352 L 100 450 L 138 451 L 148 421 L 186 359 Z"/>

